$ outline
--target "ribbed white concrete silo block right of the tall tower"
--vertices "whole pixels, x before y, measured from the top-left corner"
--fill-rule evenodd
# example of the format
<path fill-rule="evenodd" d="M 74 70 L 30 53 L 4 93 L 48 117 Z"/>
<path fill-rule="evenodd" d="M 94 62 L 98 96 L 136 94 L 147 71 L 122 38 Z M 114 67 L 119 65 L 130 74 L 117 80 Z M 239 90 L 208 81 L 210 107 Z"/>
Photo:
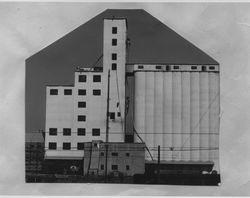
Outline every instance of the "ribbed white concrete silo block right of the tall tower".
<path fill-rule="evenodd" d="M 219 68 L 202 72 L 179 66 L 178 71 L 144 65 L 135 70 L 134 122 L 157 159 L 216 161 L 219 146 Z M 215 72 L 216 71 L 216 72 Z M 152 133 L 155 135 L 152 136 Z M 135 136 L 136 142 L 140 142 Z M 173 151 L 171 151 L 173 147 Z M 155 150 L 155 151 L 154 151 Z M 149 155 L 146 159 L 150 160 Z"/>

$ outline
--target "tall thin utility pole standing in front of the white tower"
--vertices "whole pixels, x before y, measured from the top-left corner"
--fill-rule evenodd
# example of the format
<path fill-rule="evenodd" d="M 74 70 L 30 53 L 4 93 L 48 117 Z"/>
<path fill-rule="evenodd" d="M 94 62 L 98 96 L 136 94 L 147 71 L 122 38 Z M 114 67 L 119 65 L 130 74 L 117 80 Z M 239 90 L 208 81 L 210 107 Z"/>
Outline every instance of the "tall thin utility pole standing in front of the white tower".
<path fill-rule="evenodd" d="M 109 142 L 109 87 L 110 87 L 110 69 L 108 71 L 108 93 L 107 93 L 107 112 L 106 112 L 106 155 L 105 155 L 105 181 L 107 182 L 108 176 L 108 142 Z"/>

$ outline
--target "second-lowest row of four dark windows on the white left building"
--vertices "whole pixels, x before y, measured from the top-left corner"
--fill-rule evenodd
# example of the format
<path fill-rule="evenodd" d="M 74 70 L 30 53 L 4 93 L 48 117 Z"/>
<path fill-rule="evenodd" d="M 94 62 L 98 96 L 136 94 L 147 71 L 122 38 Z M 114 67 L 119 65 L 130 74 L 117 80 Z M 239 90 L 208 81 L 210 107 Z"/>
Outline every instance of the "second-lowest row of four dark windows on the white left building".
<path fill-rule="evenodd" d="M 93 128 L 92 129 L 92 136 L 100 136 L 100 129 L 99 128 Z M 49 129 L 49 135 L 50 136 L 56 136 L 57 135 L 57 128 L 50 128 Z M 71 136 L 71 129 L 70 128 L 64 128 L 63 129 L 63 135 L 64 136 Z M 86 129 L 85 128 L 78 128 L 77 129 L 77 135 L 78 136 L 85 136 L 86 135 Z"/>

